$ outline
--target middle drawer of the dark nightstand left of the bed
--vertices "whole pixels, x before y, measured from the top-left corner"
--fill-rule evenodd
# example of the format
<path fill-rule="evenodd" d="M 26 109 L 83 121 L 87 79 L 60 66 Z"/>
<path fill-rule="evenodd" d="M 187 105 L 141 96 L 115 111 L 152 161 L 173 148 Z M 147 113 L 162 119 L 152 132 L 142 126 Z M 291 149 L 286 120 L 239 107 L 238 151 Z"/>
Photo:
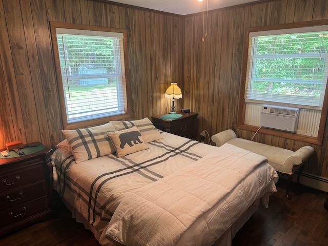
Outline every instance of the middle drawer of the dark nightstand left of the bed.
<path fill-rule="evenodd" d="M 16 206 L 19 203 L 34 200 L 47 194 L 44 182 L 38 182 L 31 186 L 24 186 L 20 189 L 10 190 L 0 195 L 0 209 L 9 206 Z"/>

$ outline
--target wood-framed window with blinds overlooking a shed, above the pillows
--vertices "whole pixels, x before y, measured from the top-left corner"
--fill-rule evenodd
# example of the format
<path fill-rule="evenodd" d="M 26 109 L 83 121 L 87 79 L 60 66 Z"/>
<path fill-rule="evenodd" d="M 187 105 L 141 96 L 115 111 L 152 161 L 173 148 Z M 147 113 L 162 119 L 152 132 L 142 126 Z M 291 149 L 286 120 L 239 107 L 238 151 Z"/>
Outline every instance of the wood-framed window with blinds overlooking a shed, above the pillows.
<path fill-rule="evenodd" d="M 127 118 L 124 30 L 51 23 L 65 129 Z"/>

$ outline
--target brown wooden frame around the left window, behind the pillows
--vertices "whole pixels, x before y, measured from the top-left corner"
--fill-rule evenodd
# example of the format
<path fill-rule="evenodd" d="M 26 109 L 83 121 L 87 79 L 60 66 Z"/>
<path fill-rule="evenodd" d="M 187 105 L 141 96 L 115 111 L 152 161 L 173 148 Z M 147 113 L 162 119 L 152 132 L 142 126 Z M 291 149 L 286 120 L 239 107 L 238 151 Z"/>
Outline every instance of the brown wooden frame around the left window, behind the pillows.
<path fill-rule="evenodd" d="M 126 97 L 126 105 L 125 105 L 125 113 L 117 114 L 111 116 L 105 116 L 100 118 L 94 118 L 89 120 L 82 120 L 77 122 L 69 123 L 67 120 L 66 114 L 66 103 L 65 103 L 65 94 L 64 94 L 64 86 L 63 80 L 61 79 L 61 69 L 60 69 L 60 60 L 59 60 L 59 52 L 58 52 L 58 43 L 57 43 L 57 33 L 56 28 L 63 29 L 76 29 L 76 30 L 87 30 L 87 31 L 100 31 L 100 32 L 116 32 L 122 33 L 122 85 L 124 85 L 125 90 L 124 94 Z M 118 29 L 118 28 L 106 28 L 106 27 L 97 27 L 97 26 L 89 26 L 89 25 L 80 25 L 80 24 L 68 24 L 61 22 L 50 22 L 50 32 L 52 38 L 52 49 L 54 55 L 54 63 L 56 70 L 56 80 L 58 87 L 58 95 L 59 95 L 59 105 L 60 105 L 60 113 L 61 113 L 61 121 L 63 123 L 63 127 L 65 130 L 82 128 L 93 125 L 100 125 L 110 120 L 120 120 L 127 119 L 131 117 L 131 91 L 130 91 L 130 82 L 129 82 L 129 65 L 128 65 L 128 45 L 127 45 L 127 30 Z"/>

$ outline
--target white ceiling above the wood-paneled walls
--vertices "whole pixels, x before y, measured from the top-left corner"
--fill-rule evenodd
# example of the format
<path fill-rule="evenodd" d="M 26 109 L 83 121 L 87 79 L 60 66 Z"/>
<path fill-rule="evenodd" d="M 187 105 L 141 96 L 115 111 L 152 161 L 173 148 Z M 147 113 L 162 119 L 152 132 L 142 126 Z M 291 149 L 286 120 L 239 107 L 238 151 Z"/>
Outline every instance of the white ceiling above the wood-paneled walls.
<path fill-rule="evenodd" d="M 203 11 L 205 2 L 205 10 L 219 9 L 224 7 L 230 7 L 239 4 L 245 4 L 250 2 L 256 2 L 259 0 L 204 0 L 204 2 L 198 2 L 197 0 L 109 0 L 111 2 L 128 4 L 163 12 L 169 12 L 174 14 L 193 14 Z"/>

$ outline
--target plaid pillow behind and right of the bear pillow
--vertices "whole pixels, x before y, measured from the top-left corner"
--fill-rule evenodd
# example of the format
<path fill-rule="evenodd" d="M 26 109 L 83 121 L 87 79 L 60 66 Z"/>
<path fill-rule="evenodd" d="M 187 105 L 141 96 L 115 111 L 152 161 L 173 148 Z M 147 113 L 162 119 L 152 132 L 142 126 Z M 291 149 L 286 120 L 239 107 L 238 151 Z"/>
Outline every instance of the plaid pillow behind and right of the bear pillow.
<path fill-rule="evenodd" d="M 149 118 L 129 121 L 111 121 L 111 123 L 115 127 L 116 131 L 121 131 L 136 126 L 145 142 L 151 142 L 162 138 L 159 131 L 155 128 Z"/>

